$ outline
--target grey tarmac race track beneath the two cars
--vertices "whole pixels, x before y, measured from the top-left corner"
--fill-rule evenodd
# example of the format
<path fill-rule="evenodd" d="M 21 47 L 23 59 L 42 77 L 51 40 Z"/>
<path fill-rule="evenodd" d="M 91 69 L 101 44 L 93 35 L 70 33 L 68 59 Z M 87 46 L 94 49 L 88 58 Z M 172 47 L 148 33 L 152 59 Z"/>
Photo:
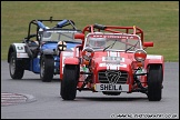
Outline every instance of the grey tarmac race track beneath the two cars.
<path fill-rule="evenodd" d="M 91 91 L 78 91 L 74 101 L 64 101 L 58 78 L 42 82 L 39 74 L 24 71 L 22 80 L 12 80 L 7 61 L 1 61 L 1 119 L 179 119 L 179 62 L 164 63 L 158 102 L 139 92 L 104 96 Z"/>

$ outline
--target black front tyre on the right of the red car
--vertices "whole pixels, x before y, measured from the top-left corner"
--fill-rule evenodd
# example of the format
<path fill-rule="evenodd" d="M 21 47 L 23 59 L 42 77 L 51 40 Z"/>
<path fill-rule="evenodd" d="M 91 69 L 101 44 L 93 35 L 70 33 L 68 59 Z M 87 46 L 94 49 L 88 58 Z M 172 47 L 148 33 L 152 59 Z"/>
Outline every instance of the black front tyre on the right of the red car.
<path fill-rule="evenodd" d="M 148 72 L 148 99 L 149 101 L 160 101 L 162 94 L 162 67 L 152 64 Z"/>

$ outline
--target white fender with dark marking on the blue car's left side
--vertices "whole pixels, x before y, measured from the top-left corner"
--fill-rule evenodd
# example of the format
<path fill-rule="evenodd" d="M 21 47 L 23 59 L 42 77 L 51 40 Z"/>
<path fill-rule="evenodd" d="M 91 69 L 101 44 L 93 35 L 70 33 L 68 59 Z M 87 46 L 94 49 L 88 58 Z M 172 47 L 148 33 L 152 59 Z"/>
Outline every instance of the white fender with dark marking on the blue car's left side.
<path fill-rule="evenodd" d="M 11 52 L 17 53 L 18 58 L 29 58 L 28 53 L 26 52 L 26 43 L 11 43 L 8 51 L 8 62 L 10 61 Z"/>

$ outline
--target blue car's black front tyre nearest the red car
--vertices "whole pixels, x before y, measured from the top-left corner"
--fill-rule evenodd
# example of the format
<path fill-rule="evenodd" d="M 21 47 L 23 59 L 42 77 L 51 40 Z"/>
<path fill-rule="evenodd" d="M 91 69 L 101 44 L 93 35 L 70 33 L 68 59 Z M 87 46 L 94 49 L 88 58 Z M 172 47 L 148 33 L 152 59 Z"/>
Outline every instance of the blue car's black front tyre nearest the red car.
<path fill-rule="evenodd" d="M 53 57 L 42 56 L 40 61 L 40 78 L 43 82 L 51 82 L 53 79 Z"/>

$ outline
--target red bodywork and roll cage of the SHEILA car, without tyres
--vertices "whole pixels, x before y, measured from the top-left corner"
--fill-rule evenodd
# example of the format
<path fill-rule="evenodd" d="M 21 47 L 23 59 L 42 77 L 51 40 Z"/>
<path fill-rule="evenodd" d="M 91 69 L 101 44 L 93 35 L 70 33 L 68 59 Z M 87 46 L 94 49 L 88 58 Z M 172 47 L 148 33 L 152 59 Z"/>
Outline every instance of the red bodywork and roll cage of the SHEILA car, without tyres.
<path fill-rule="evenodd" d="M 96 34 L 96 32 L 101 32 Z M 93 51 L 90 61 L 86 60 L 83 56 L 84 43 L 88 37 L 103 36 L 103 33 L 111 33 L 106 37 L 113 37 L 119 33 L 119 38 L 133 37 L 133 39 L 141 40 L 141 48 L 153 47 L 153 42 L 144 42 L 143 31 L 138 27 L 117 27 L 117 26 L 101 26 L 91 24 L 84 27 L 82 34 L 77 34 L 77 39 L 82 40 L 82 44 L 74 48 L 73 51 L 62 51 L 60 56 L 60 79 L 63 78 L 63 67 L 66 64 L 74 64 L 80 67 L 79 79 L 77 90 L 91 90 L 102 91 L 104 94 L 116 94 L 117 92 L 143 92 L 147 93 L 147 73 L 150 64 L 160 64 L 163 70 L 163 57 L 146 54 L 144 61 L 137 61 L 134 59 L 134 52 L 127 51 Z M 124 33 L 124 34 L 122 34 Z M 128 34 L 128 36 L 127 36 Z M 116 36 L 114 36 L 116 37 Z M 97 37 L 98 38 L 98 37 Z M 117 39 L 117 38 L 116 38 Z M 128 39 L 128 38 L 127 38 Z M 128 44 L 128 42 L 127 42 Z M 129 44 L 128 44 L 129 46 Z M 139 56 L 137 53 L 137 56 Z M 121 58 L 121 60 L 106 60 L 110 58 Z M 141 57 L 141 54 L 140 54 Z M 116 62 L 116 63 L 114 63 Z M 87 70 L 84 70 L 84 67 Z M 137 70 L 141 68 L 142 72 L 138 76 Z M 112 70 L 111 72 L 109 70 Z M 108 71 L 108 72 L 106 72 Z M 120 71 L 120 72 L 118 72 Z M 101 73 L 102 72 L 102 73 Z M 113 73 L 113 74 L 112 74 Z M 120 76 L 119 76 L 120 73 Z M 163 72 L 162 72 L 163 73 Z M 117 76 L 118 74 L 118 76 Z M 107 81 L 101 81 L 104 77 Z M 122 77 L 122 78 L 121 78 Z M 113 79 L 116 81 L 113 81 Z M 110 86 L 101 86 L 98 83 L 109 83 Z M 117 88 L 116 84 L 121 86 Z M 120 87 L 118 86 L 118 87 Z M 98 87 L 98 88 L 97 88 Z M 117 90 L 117 91 L 116 91 Z M 108 92 L 106 92 L 108 91 Z"/>

